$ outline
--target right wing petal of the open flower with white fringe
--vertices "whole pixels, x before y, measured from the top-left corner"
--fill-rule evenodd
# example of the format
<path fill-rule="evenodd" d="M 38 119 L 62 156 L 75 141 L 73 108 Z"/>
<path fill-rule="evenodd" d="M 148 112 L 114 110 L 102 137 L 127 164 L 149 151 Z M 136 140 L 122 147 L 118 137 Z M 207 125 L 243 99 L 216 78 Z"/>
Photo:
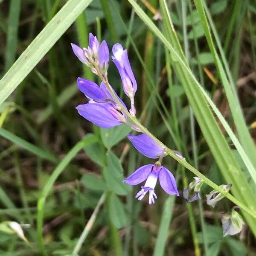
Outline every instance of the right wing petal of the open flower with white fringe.
<path fill-rule="evenodd" d="M 167 194 L 179 195 L 175 177 L 172 175 L 172 173 L 168 169 L 166 169 L 163 166 L 159 173 L 159 182 L 160 182 L 160 186 Z"/>

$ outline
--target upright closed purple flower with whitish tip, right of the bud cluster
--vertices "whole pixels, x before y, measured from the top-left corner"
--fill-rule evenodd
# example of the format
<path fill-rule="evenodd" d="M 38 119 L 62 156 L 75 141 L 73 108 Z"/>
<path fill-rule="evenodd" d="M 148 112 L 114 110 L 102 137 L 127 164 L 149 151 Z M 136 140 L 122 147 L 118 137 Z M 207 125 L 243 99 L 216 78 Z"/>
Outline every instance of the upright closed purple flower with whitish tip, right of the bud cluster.
<path fill-rule="evenodd" d="M 122 79 L 122 85 L 125 94 L 131 100 L 131 114 L 135 116 L 136 109 L 134 106 L 134 94 L 137 91 L 137 82 L 134 77 L 134 73 L 131 69 L 131 64 L 128 59 L 127 49 L 123 49 L 121 44 L 114 44 L 112 48 L 113 52 L 113 62 L 119 71 Z"/>

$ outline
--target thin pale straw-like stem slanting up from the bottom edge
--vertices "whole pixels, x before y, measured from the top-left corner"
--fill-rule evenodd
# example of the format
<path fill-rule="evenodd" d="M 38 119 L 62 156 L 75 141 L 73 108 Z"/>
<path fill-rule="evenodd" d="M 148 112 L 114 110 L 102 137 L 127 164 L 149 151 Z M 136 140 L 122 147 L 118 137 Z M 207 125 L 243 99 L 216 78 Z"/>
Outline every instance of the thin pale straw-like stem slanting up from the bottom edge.
<path fill-rule="evenodd" d="M 84 227 L 83 232 L 81 233 L 81 236 L 76 244 L 76 247 L 73 250 L 72 254 L 78 254 L 79 250 L 81 249 L 82 244 L 84 243 L 84 240 L 86 239 L 89 231 L 91 230 L 91 228 L 93 227 L 93 224 L 96 220 L 96 217 L 99 213 L 99 209 L 102 206 L 102 204 L 104 204 L 105 202 L 105 198 L 106 198 L 106 193 L 103 193 L 101 198 L 99 199 L 98 204 L 96 205 L 93 214 L 90 216 L 89 221 L 87 222 L 86 226 Z"/>

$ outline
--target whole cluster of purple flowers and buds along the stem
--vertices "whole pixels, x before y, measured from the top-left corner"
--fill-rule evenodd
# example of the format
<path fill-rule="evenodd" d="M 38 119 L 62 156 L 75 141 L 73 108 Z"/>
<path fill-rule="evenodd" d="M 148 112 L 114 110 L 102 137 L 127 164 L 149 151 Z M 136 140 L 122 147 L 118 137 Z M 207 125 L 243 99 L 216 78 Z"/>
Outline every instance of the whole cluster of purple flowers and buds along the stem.
<path fill-rule="evenodd" d="M 130 125 L 135 131 L 140 131 L 136 125 L 128 121 L 127 115 L 124 113 L 128 111 L 128 108 L 108 82 L 109 49 L 107 43 L 102 41 L 100 44 L 98 39 L 90 33 L 88 48 L 82 49 L 76 44 L 71 44 L 71 46 L 79 60 L 90 67 L 91 71 L 102 80 L 102 83 L 98 86 L 93 81 L 80 77 L 77 79 L 79 90 L 89 99 L 88 103 L 76 107 L 78 113 L 102 128 L 126 124 Z M 123 90 L 131 102 L 129 113 L 131 116 L 135 116 L 134 95 L 137 91 L 137 82 L 131 69 L 127 49 L 123 49 L 121 44 L 114 44 L 112 53 L 112 60 L 119 71 Z M 169 195 L 179 195 L 175 177 L 168 169 L 161 165 L 162 159 L 166 155 L 165 148 L 160 147 L 146 134 L 138 136 L 129 134 L 127 137 L 141 154 L 149 158 L 159 158 L 154 164 L 140 167 L 124 180 L 124 182 L 130 185 L 137 185 L 146 180 L 145 185 L 141 187 L 136 198 L 142 200 L 146 193 L 149 192 L 148 202 L 149 204 L 154 204 L 154 199 L 157 198 L 154 188 L 158 179 L 160 186 L 166 193 Z M 183 158 L 178 151 L 175 151 L 175 154 Z"/>

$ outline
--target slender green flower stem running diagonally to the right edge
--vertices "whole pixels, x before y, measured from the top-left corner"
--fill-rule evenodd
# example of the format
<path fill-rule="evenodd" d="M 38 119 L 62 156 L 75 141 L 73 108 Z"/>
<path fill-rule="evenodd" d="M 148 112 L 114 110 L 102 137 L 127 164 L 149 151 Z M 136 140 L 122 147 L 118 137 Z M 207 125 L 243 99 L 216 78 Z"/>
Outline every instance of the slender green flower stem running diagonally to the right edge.
<path fill-rule="evenodd" d="M 100 74 L 100 73 L 99 73 Z M 197 177 L 199 177 L 204 183 L 206 183 L 208 186 L 212 187 L 213 189 L 216 189 L 216 191 L 220 192 L 224 197 L 228 198 L 230 201 L 232 201 L 234 204 L 239 206 L 241 209 L 243 209 L 245 212 L 253 216 L 253 218 L 256 218 L 256 212 L 253 212 L 251 209 L 249 209 L 247 206 L 242 204 L 239 200 L 233 197 L 229 192 L 224 191 L 221 189 L 217 184 L 209 180 L 206 176 L 204 176 L 201 172 L 199 172 L 197 169 L 195 169 L 192 165 L 190 165 L 186 159 L 183 157 L 182 159 L 178 157 L 173 150 L 168 148 L 165 144 L 163 144 L 160 140 L 158 140 L 153 134 L 151 134 L 150 131 L 148 131 L 147 128 L 145 128 L 135 116 L 131 116 L 129 111 L 127 111 L 119 101 L 119 99 L 116 97 L 116 95 L 111 90 L 110 84 L 108 83 L 108 79 L 104 75 L 100 75 L 103 83 L 108 88 L 109 92 L 115 99 L 116 103 L 119 105 L 120 110 L 125 113 L 125 115 L 136 125 L 138 128 L 140 128 L 141 132 L 144 134 L 147 134 L 152 140 L 154 140 L 160 147 L 166 148 L 166 153 L 169 154 L 172 158 L 174 158 L 177 162 L 179 162 L 181 165 L 186 167 L 186 169 L 189 169 L 190 172 L 194 173 Z"/>

